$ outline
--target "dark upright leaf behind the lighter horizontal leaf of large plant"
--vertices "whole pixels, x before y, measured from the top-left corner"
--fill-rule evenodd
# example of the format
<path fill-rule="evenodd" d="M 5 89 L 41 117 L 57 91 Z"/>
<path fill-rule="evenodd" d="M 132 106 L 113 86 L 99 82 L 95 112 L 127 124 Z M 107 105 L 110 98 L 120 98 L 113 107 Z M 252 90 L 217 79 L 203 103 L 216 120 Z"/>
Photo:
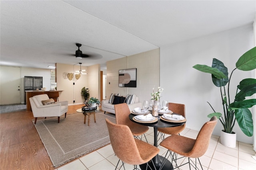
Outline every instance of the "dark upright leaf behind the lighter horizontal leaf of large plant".
<path fill-rule="evenodd" d="M 223 74 L 226 76 L 226 78 L 219 79 L 212 74 L 213 84 L 217 87 L 226 86 L 226 84 L 228 83 L 228 68 L 226 68 L 226 66 L 224 66 L 221 61 L 215 58 L 212 59 L 212 68 L 218 68 L 218 70 L 223 72 Z"/>

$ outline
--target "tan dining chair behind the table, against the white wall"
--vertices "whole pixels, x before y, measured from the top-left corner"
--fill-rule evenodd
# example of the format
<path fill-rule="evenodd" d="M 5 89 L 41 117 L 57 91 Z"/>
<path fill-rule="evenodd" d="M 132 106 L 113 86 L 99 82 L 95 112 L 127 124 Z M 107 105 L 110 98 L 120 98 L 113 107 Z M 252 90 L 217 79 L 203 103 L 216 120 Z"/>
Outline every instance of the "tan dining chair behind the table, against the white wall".
<path fill-rule="evenodd" d="M 169 110 L 173 111 L 174 113 L 178 113 L 183 117 L 186 117 L 185 105 L 184 104 L 177 104 L 177 103 L 169 103 Z M 165 134 L 178 135 L 181 131 L 183 131 L 186 127 L 186 123 L 181 126 L 176 127 L 158 127 L 158 135 L 160 134 L 160 138 L 164 140 Z"/>

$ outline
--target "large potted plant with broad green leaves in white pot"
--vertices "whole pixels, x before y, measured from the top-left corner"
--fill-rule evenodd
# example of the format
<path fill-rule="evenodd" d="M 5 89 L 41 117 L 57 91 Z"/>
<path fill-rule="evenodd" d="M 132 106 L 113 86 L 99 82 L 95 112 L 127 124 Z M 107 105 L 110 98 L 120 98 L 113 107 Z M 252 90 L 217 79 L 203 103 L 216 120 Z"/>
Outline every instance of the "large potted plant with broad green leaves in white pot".
<path fill-rule="evenodd" d="M 208 117 L 217 116 L 220 119 L 224 128 L 221 132 L 221 143 L 227 147 L 236 147 L 236 137 L 235 141 L 231 144 L 226 143 L 226 141 L 224 141 L 225 137 L 222 137 L 222 134 L 225 133 L 235 134 L 233 132 L 235 122 L 238 123 L 240 129 L 245 135 L 251 137 L 253 135 L 252 113 L 248 108 L 256 105 L 256 99 L 252 97 L 248 99 L 246 97 L 252 96 L 256 93 L 256 79 L 246 78 L 240 81 L 240 84 L 237 86 L 237 90 L 235 92 L 236 96 L 233 102 L 230 102 L 232 100 L 230 99 L 230 81 L 234 70 L 238 69 L 242 71 L 249 71 L 256 68 L 256 47 L 250 49 L 238 59 L 236 62 L 236 68 L 232 70 L 229 78 L 228 68 L 226 68 L 226 66 L 217 59 L 213 59 L 212 67 L 196 64 L 193 68 L 212 74 L 212 82 L 215 86 L 220 88 L 220 99 L 222 101 L 224 115 L 216 112 L 210 103 L 208 103 L 214 111 L 214 113 L 210 113 Z M 227 89 L 226 85 L 228 85 Z"/>

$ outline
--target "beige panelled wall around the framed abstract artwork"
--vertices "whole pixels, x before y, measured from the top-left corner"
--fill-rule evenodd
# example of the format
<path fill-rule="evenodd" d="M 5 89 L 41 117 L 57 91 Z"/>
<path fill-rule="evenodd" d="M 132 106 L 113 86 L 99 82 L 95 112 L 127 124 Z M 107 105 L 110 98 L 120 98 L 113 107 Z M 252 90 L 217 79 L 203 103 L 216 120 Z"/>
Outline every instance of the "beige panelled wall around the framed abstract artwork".
<path fill-rule="evenodd" d="M 154 49 L 107 62 L 106 99 L 111 93 L 135 94 L 139 101 L 150 100 L 152 88 L 159 86 L 160 50 Z M 137 68 L 137 87 L 118 87 L 119 70 Z"/>

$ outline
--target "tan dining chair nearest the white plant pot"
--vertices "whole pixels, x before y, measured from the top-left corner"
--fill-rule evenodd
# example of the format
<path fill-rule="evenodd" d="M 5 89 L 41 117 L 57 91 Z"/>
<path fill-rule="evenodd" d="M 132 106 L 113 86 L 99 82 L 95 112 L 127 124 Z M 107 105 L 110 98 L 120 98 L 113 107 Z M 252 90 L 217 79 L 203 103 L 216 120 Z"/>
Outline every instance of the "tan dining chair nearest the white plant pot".
<path fill-rule="evenodd" d="M 166 156 L 168 155 L 168 153 L 170 153 L 169 156 L 172 157 L 172 160 L 174 160 L 174 162 L 176 162 L 176 160 L 180 158 L 176 158 L 176 156 L 174 156 L 172 152 L 180 154 L 182 156 L 181 158 L 188 157 L 188 162 L 186 162 L 185 164 L 189 164 L 190 169 L 191 169 L 191 166 L 193 166 L 195 169 L 198 169 L 196 167 L 196 162 L 194 163 L 190 158 L 198 159 L 198 162 L 202 168 L 199 157 L 203 156 L 206 150 L 208 149 L 212 131 L 214 130 L 214 127 L 217 124 L 217 120 L 218 120 L 217 117 L 214 116 L 210 119 L 210 121 L 204 123 L 196 139 L 191 139 L 191 138 L 180 136 L 180 135 L 171 135 L 166 139 L 164 139 L 160 143 L 160 146 L 168 149 Z M 177 165 L 177 162 L 176 162 L 176 165 Z M 180 166 L 183 166 L 183 165 L 184 164 Z M 176 168 L 179 168 L 180 166 L 177 166 Z"/>

